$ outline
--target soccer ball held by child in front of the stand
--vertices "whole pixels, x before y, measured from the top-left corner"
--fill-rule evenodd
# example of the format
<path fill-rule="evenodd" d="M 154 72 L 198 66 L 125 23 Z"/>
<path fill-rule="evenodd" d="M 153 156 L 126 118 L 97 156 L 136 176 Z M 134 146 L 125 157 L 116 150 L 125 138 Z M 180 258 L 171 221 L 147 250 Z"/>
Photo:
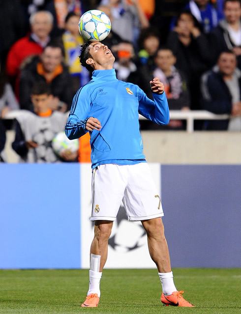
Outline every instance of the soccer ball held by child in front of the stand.
<path fill-rule="evenodd" d="M 69 140 L 64 132 L 60 132 L 52 140 L 52 147 L 59 156 L 63 151 L 75 153 L 79 149 L 79 140 Z"/>

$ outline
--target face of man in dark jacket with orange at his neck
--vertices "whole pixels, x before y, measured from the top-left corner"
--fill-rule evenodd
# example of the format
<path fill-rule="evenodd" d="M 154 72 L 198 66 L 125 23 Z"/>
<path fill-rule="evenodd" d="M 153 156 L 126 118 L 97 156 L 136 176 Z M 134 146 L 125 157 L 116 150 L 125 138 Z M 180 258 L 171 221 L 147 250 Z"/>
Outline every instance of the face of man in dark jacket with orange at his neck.
<path fill-rule="evenodd" d="M 47 47 L 41 55 L 43 67 L 46 72 L 51 73 L 60 65 L 62 53 L 59 47 Z"/>

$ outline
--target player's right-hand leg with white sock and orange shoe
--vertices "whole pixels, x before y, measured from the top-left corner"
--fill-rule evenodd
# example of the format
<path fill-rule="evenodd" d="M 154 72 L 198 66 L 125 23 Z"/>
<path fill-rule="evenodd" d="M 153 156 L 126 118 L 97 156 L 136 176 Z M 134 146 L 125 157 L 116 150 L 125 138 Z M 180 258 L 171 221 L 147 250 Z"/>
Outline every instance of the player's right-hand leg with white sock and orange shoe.
<path fill-rule="evenodd" d="M 164 226 L 161 218 L 142 221 L 147 231 L 148 247 L 152 260 L 155 262 L 162 285 L 161 302 L 164 305 L 193 307 L 181 295 L 184 291 L 177 291 L 173 281 L 170 256 L 167 241 L 164 235 Z"/>

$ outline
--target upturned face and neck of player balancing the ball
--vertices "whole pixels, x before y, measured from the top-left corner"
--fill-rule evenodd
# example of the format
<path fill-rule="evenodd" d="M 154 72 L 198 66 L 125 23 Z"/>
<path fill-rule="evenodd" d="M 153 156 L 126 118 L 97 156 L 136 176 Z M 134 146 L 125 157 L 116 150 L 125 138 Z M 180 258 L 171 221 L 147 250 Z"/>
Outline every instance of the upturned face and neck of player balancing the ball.
<path fill-rule="evenodd" d="M 95 70 L 108 70 L 113 68 L 115 57 L 106 45 L 100 42 L 90 44 L 91 58 L 87 59 L 87 63 L 92 65 Z"/>

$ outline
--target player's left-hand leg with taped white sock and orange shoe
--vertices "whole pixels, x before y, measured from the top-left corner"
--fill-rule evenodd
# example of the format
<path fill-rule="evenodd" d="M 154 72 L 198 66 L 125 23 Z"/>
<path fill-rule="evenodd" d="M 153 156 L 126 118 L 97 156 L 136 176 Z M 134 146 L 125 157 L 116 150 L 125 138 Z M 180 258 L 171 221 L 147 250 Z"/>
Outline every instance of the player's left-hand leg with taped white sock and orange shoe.
<path fill-rule="evenodd" d="M 90 246 L 90 286 L 82 307 L 97 307 L 100 297 L 100 279 L 108 253 L 112 221 L 95 221 L 94 238 Z"/>

